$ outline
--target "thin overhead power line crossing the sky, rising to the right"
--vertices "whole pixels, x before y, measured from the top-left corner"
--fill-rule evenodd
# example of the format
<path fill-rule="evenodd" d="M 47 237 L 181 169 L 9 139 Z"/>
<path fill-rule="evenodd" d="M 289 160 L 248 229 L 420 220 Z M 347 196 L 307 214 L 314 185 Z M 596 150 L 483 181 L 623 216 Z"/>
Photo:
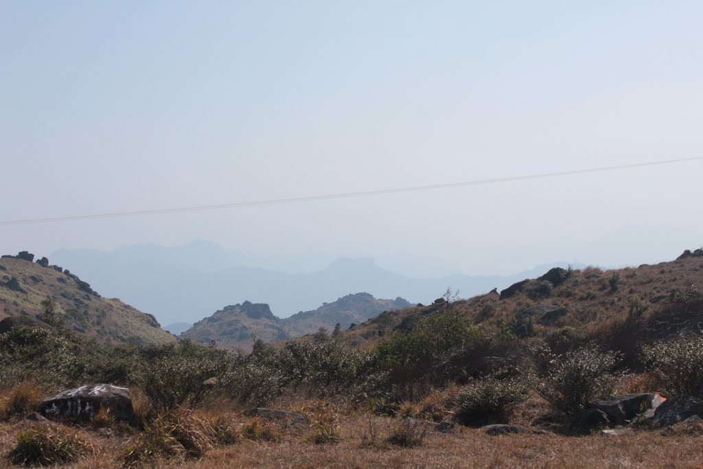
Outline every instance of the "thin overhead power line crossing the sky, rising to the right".
<path fill-rule="evenodd" d="M 573 176 L 575 174 L 590 174 L 590 173 L 596 173 L 596 172 L 619 171 L 619 170 L 623 170 L 623 169 L 634 169 L 634 168 L 659 166 L 659 165 L 671 165 L 673 163 L 692 162 L 692 161 L 699 161 L 699 160 L 703 160 L 703 157 L 680 158 L 678 160 L 652 161 L 652 162 L 644 162 L 644 163 L 635 163 L 632 165 L 617 165 L 617 166 L 603 166 L 603 167 L 594 167 L 594 168 L 586 168 L 586 169 L 574 169 L 571 171 L 529 174 L 526 176 L 510 176 L 510 177 L 501 177 L 501 178 L 496 178 L 496 179 L 478 179 L 475 181 L 451 182 L 451 183 L 445 183 L 445 184 L 428 184 L 427 186 L 411 186 L 411 187 L 400 187 L 400 188 L 389 188 L 389 189 L 377 189 L 375 191 L 359 191 L 359 192 L 347 192 L 347 193 L 336 193 L 336 194 L 325 194 L 325 195 L 310 195 L 308 197 L 293 197 L 293 198 L 281 198 L 281 199 L 269 199 L 269 200 L 252 200 L 249 202 L 225 203 L 225 204 L 217 204 L 217 205 L 196 205 L 193 207 L 177 207 L 177 208 L 165 208 L 165 209 L 157 209 L 157 210 L 135 210 L 133 212 L 110 212 L 110 213 L 98 213 L 98 214 L 86 214 L 86 215 L 72 215 L 72 216 L 68 216 L 68 217 L 50 217 L 50 218 L 34 218 L 34 219 L 23 219 L 23 220 L 6 220 L 6 221 L 0 221 L 0 226 L 54 223 L 54 222 L 58 222 L 58 221 L 91 220 L 91 219 L 100 219 L 100 218 L 137 217 L 140 215 L 155 215 L 155 214 L 181 213 L 181 212 L 200 212 L 203 210 L 218 210 L 218 209 L 224 209 L 224 208 L 259 207 L 262 205 L 278 205 L 278 204 L 286 204 L 286 203 L 314 202 L 316 200 L 332 200 L 332 199 L 353 198 L 353 197 L 368 197 L 368 196 L 372 196 L 372 195 L 384 195 L 384 194 L 394 194 L 394 193 L 404 193 L 404 192 L 434 191 L 434 190 L 438 190 L 438 189 L 447 189 L 447 188 L 453 188 L 453 187 L 483 186 L 486 184 L 503 184 L 503 183 L 515 182 L 515 181 L 527 181 L 529 179 L 545 179 L 545 178 L 559 177 L 559 176 Z"/>

